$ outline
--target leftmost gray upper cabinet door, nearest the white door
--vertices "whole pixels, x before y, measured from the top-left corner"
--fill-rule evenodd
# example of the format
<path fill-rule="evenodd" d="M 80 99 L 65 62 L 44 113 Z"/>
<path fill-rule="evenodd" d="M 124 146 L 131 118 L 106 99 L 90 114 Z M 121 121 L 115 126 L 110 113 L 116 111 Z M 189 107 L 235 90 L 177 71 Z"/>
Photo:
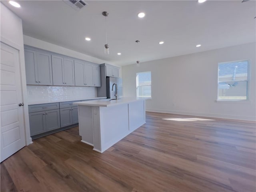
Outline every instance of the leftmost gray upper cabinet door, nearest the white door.
<path fill-rule="evenodd" d="M 36 52 L 24 49 L 26 82 L 27 85 L 38 85 L 38 72 L 36 65 Z"/>

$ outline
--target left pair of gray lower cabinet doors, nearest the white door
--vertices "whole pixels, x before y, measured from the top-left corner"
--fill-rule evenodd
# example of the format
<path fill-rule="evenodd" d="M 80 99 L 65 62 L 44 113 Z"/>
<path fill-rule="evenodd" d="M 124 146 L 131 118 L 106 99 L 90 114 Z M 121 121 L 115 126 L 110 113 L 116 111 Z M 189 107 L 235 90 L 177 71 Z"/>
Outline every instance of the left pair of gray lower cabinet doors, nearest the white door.
<path fill-rule="evenodd" d="M 60 110 L 29 113 L 30 135 L 38 135 L 60 128 Z"/>

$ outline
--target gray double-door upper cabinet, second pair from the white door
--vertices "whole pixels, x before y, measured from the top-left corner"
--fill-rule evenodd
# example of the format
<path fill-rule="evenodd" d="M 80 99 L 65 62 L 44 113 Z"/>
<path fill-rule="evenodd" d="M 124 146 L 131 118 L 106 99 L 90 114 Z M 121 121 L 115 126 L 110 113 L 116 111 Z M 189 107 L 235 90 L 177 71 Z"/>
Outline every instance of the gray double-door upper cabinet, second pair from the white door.
<path fill-rule="evenodd" d="M 74 60 L 52 55 L 53 85 L 75 86 Z"/>

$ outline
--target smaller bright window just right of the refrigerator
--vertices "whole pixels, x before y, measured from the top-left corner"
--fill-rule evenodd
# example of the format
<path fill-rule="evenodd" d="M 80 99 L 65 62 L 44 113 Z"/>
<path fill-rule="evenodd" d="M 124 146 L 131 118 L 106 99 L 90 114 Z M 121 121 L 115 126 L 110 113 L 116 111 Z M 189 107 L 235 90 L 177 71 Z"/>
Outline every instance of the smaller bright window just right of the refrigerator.
<path fill-rule="evenodd" d="M 151 98 L 151 72 L 137 73 L 137 98 Z"/>

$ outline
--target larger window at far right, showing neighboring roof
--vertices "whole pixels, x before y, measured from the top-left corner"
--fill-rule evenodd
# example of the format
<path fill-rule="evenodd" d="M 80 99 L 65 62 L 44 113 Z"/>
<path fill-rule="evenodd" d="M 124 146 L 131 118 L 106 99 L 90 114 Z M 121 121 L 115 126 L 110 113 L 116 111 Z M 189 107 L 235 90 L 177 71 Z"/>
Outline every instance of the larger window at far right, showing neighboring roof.
<path fill-rule="evenodd" d="M 249 61 L 218 64 L 218 100 L 247 100 Z"/>

